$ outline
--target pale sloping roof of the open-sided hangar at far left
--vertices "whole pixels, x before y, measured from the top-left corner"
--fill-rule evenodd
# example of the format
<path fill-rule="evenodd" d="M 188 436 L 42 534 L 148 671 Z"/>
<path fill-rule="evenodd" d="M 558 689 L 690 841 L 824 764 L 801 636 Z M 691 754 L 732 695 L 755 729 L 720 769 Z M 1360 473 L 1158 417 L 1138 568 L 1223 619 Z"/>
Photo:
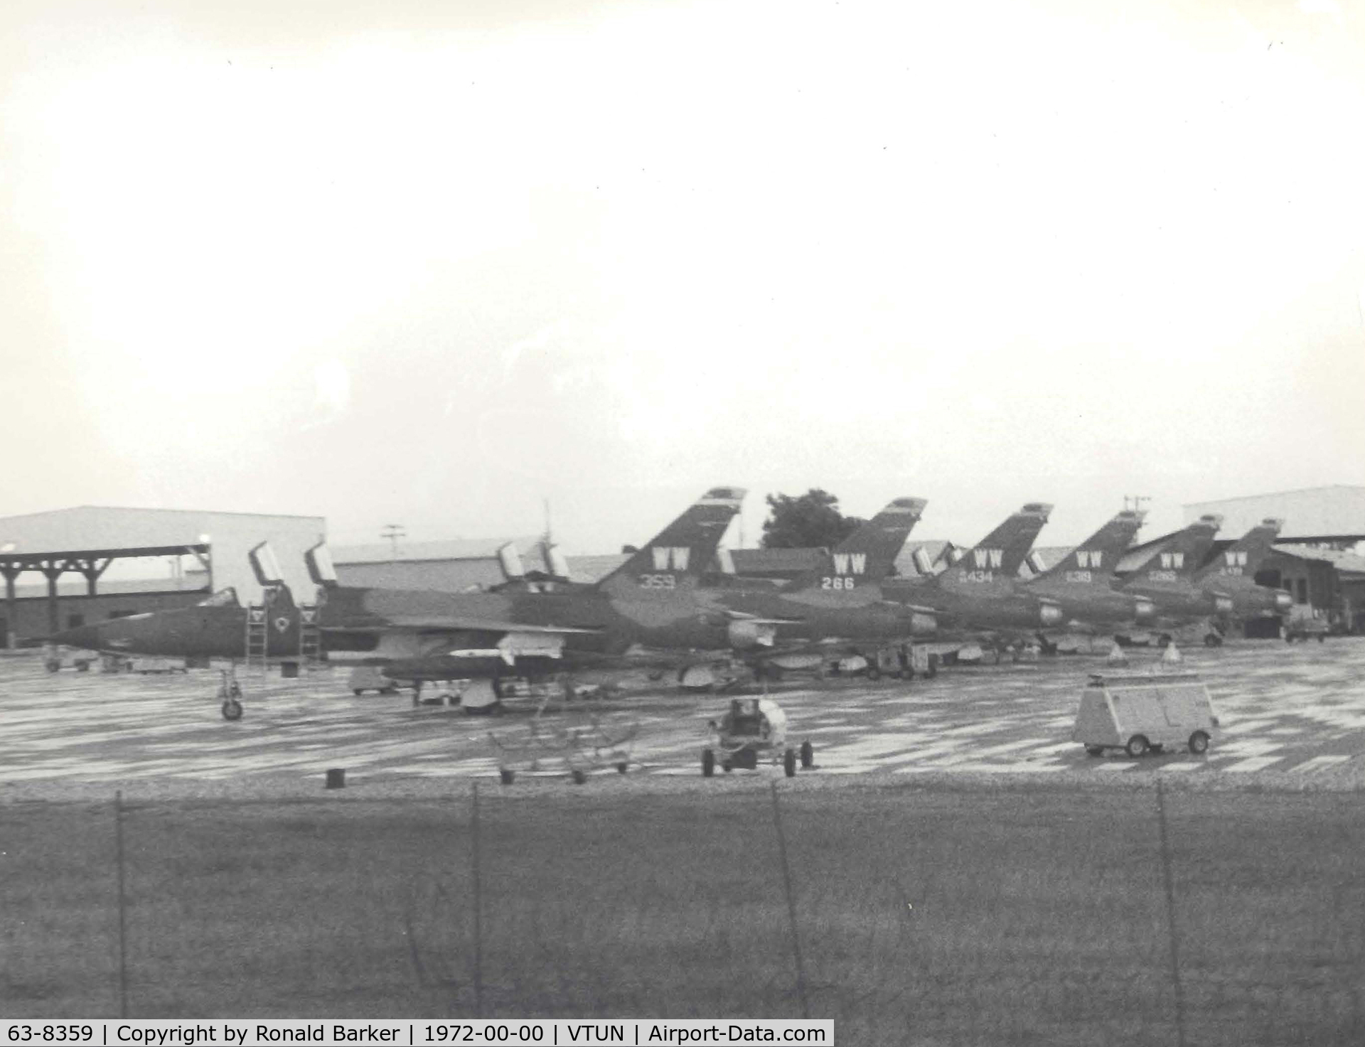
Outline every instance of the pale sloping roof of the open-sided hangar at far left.
<path fill-rule="evenodd" d="M 79 505 L 74 509 L 0 516 L 0 556 L 52 553 L 134 553 L 202 546 L 212 542 L 216 527 L 280 527 L 281 524 L 324 531 L 321 516 L 268 516 L 220 513 L 197 509 L 127 509 Z M 152 554 L 158 554 L 158 551 Z"/>

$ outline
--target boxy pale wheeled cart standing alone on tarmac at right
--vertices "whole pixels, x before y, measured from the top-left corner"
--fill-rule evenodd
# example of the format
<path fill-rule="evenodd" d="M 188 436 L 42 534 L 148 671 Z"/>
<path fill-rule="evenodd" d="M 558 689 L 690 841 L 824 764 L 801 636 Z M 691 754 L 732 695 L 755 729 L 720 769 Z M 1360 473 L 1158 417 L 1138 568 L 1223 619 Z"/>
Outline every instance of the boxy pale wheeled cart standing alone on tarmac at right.
<path fill-rule="evenodd" d="M 1137 758 L 1167 745 L 1208 752 L 1218 714 L 1197 673 L 1092 674 L 1081 692 L 1072 740 L 1091 756 L 1123 749 Z"/>

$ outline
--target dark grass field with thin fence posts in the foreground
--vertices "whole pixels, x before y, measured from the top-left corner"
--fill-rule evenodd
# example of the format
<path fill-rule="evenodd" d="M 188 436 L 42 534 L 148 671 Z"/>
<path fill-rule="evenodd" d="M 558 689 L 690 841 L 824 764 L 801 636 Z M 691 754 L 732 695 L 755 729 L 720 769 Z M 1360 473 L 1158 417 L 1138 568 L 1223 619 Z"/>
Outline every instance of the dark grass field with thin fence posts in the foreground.
<path fill-rule="evenodd" d="M 0 805 L 0 1016 L 805 1010 L 841 1044 L 1365 1042 L 1358 792 L 1168 785 L 1166 863 L 1151 786 L 620 785 L 485 784 L 476 820 L 468 784 Z"/>

